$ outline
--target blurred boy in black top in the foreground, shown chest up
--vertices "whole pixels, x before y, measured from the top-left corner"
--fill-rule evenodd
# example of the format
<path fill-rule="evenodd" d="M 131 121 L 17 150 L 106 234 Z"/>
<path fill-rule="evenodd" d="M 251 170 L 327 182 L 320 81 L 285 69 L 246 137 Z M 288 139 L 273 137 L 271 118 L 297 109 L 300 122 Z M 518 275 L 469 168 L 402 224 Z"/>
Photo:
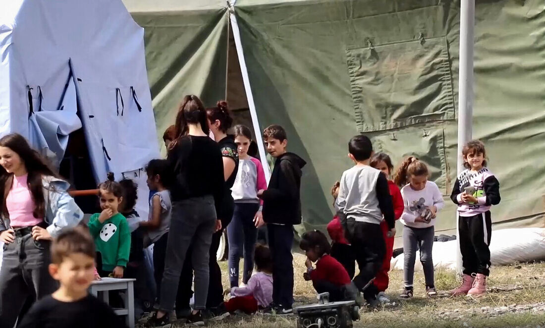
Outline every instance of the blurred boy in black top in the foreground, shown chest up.
<path fill-rule="evenodd" d="M 102 301 L 89 295 L 94 279 L 95 244 L 87 227 L 61 232 L 51 246 L 51 276 L 60 282 L 52 295 L 35 303 L 21 328 L 119 328 L 119 318 Z"/>

